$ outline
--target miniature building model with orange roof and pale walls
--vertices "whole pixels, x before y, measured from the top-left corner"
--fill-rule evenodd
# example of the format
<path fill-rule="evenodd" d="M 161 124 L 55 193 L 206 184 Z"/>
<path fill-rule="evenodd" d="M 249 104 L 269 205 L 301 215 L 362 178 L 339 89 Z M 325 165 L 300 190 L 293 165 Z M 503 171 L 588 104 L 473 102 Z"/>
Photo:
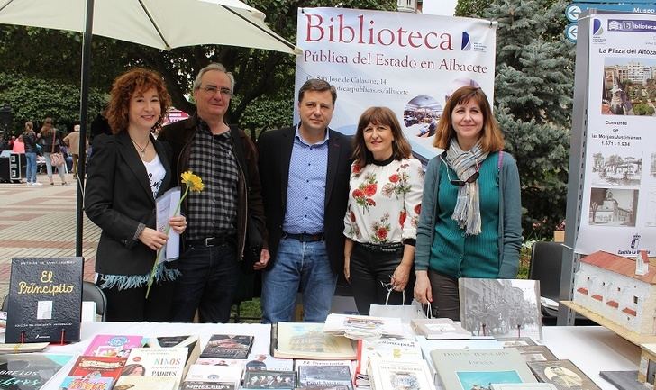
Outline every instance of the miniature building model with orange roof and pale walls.
<path fill-rule="evenodd" d="M 645 262 L 649 258 L 642 253 Z M 656 268 L 639 276 L 635 261 L 598 251 L 581 258 L 574 303 L 639 335 L 656 334 Z"/>

